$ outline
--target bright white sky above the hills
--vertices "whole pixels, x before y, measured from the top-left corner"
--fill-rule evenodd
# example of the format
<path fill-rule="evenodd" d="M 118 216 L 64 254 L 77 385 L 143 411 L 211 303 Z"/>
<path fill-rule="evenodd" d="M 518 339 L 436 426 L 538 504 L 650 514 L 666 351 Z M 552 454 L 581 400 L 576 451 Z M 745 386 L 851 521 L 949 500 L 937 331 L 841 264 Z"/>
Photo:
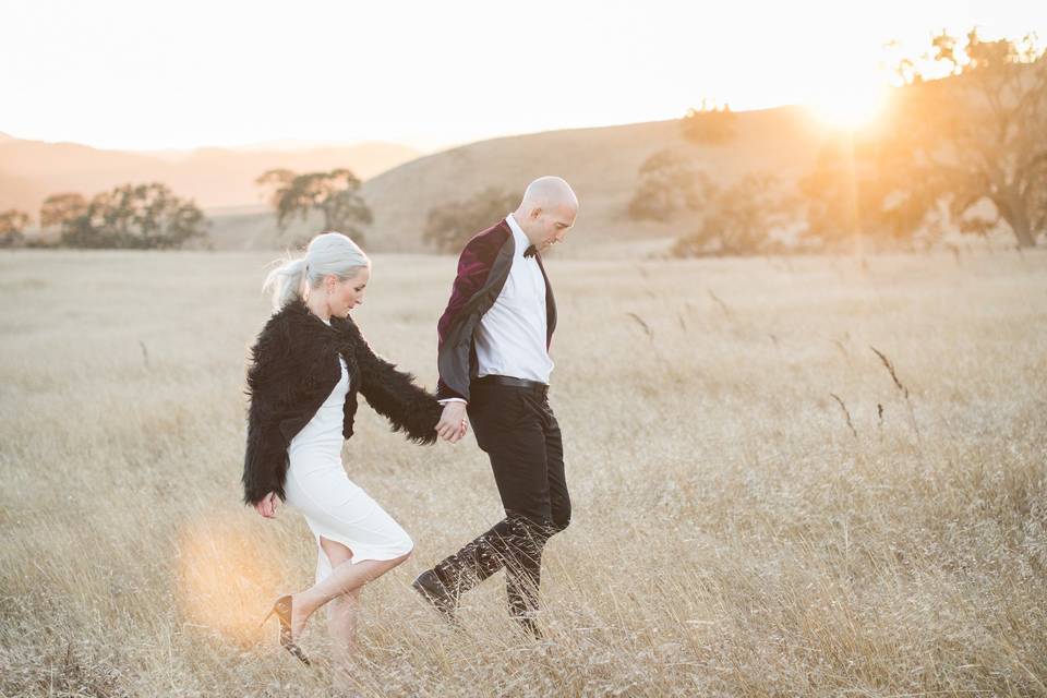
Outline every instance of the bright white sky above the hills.
<path fill-rule="evenodd" d="M 857 103 L 884 49 L 1036 32 L 1047 2 L 0 0 L 0 132 L 95 147 L 498 135 Z"/>

